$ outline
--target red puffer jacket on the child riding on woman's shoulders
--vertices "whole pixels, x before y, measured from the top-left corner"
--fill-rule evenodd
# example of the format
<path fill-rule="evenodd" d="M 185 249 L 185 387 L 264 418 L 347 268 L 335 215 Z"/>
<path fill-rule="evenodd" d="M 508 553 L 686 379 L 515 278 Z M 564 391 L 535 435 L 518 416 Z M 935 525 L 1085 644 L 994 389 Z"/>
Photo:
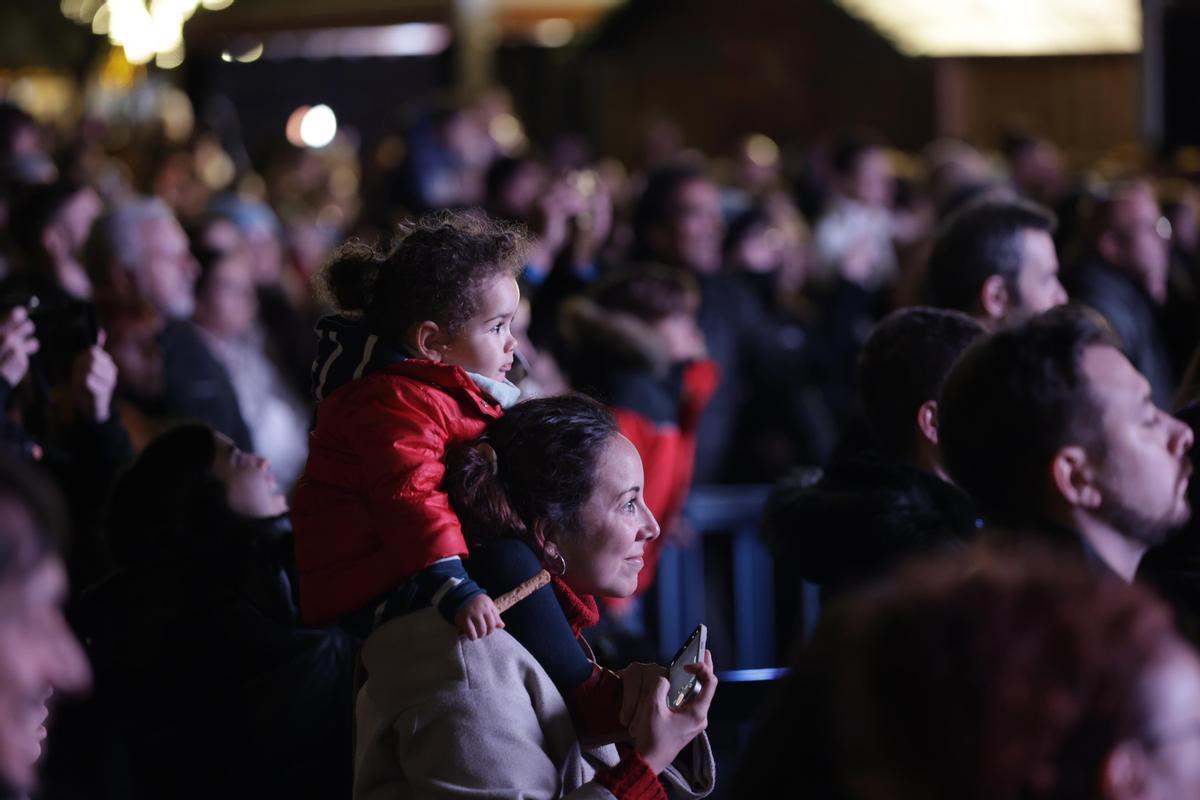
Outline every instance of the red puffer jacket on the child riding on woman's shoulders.
<path fill-rule="evenodd" d="M 305 622 L 331 622 L 467 555 L 443 459 L 503 413 L 458 367 L 415 359 L 322 401 L 292 510 Z"/>

